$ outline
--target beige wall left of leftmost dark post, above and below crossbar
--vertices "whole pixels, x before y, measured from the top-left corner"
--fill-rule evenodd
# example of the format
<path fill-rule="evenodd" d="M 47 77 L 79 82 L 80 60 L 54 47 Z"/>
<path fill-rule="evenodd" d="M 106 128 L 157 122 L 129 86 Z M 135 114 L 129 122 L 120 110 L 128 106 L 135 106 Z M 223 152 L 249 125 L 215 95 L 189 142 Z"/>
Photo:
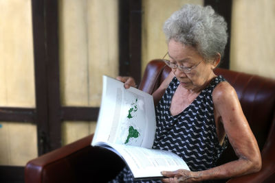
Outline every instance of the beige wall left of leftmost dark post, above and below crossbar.
<path fill-rule="evenodd" d="M 31 0 L 0 1 L 0 106 L 35 108 Z M 36 125 L 0 121 L 0 164 L 36 156 Z"/>

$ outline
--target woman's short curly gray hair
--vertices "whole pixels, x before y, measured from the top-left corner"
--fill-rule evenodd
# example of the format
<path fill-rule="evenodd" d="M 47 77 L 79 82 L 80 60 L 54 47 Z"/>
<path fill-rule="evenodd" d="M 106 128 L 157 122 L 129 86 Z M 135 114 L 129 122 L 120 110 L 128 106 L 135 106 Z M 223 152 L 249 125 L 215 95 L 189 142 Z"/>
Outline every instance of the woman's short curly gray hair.
<path fill-rule="evenodd" d="M 164 23 L 166 40 L 174 39 L 197 49 L 206 60 L 223 57 L 228 41 L 227 23 L 211 6 L 184 5 Z"/>

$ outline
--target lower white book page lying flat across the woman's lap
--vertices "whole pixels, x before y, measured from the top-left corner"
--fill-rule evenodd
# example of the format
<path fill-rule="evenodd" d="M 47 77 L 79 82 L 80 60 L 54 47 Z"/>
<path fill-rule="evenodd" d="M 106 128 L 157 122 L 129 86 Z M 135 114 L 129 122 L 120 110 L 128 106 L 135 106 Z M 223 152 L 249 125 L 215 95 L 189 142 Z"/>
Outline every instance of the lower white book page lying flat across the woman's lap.
<path fill-rule="evenodd" d="M 170 151 L 111 145 L 128 164 L 135 178 L 162 177 L 161 171 L 190 170 L 179 156 Z"/>

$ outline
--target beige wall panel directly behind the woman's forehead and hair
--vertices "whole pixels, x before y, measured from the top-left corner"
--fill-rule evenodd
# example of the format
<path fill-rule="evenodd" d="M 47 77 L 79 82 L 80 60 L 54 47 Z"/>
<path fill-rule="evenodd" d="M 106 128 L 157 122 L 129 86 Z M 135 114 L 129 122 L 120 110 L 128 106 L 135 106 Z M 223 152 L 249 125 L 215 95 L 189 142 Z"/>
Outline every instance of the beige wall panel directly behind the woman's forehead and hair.
<path fill-rule="evenodd" d="M 203 5 L 203 0 L 142 1 L 142 73 L 150 60 L 162 58 L 167 52 L 162 25 L 186 3 Z"/>

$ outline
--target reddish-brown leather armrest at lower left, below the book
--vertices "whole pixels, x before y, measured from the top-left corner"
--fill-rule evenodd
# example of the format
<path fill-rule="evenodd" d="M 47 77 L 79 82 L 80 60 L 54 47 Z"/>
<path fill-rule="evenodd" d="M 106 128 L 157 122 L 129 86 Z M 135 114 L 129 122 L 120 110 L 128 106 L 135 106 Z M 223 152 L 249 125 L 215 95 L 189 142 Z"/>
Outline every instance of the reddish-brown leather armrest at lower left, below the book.
<path fill-rule="evenodd" d="M 113 152 L 91 147 L 93 135 L 30 160 L 25 182 L 107 182 L 124 167 Z"/>

